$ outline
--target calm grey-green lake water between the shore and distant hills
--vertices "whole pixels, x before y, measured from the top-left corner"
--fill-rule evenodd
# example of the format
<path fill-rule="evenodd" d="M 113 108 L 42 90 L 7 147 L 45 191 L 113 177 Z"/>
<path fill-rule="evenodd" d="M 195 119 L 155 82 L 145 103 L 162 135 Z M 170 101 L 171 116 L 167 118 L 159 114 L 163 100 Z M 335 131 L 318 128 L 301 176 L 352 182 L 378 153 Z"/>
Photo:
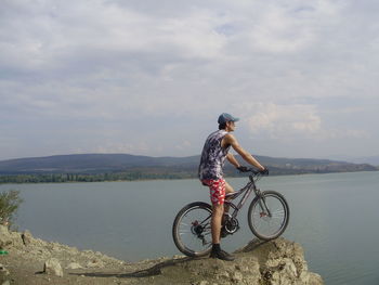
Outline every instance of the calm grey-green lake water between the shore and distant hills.
<path fill-rule="evenodd" d="M 245 179 L 228 179 L 238 189 Z M 326 284 L 379 284 L 379 172 L 269 177 L 262 190 L 284 194 L 291 210 L 284 236 L 300 243 L 310 270 Z M 174 216 L 193 200 L 208 202 L 197 180 L 13 184 L 24 198 L 17 224 L 35 236 L 127 261 L 180 254 L 171 237 Z M 227 250 L 252 234 L 241 229 L 222 241 Z"/>

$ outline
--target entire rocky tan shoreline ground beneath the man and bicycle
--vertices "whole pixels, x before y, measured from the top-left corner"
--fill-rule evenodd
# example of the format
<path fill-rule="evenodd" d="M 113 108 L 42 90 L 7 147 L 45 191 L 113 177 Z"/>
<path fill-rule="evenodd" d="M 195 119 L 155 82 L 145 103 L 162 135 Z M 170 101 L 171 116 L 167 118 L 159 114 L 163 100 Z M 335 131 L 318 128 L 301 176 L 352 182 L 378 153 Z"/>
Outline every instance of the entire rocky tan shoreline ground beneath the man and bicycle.
<path fill-rule="evenodd" d="M 183 256 L 128 263 L 92 250 L 49 243 L 29 232 L 9 232 L 0 225 L 0 284 L 259 284 L 319 285 L 308 269 L 302 247 L 284 238 L 252 241 L 236 250 L 236 260 Z"/>

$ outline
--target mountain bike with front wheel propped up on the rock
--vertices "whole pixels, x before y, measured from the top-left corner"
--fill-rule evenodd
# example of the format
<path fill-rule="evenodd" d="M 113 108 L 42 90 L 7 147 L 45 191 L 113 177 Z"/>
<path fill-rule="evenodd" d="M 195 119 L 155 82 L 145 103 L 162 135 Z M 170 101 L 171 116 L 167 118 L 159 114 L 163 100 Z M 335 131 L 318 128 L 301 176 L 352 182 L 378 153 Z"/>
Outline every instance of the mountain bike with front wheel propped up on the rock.
<path fill-rule="evenodd" d="M 285 197 L 275 191 L 261 191 L 256 182 L 262 173 L 251 168 L 244 172 L 251 172 L 246 186 L 226 194 L 225 206 L 230 206 L 232 213 L 224 213 L 222 232 L 226 235 L 239 230 L 238 211 L 243 208 L 251 192 L 256 197 L 248 209 L 248 224 L 251 232 L 262 241 L 277 238 L 288 225 L 289 207 Z M 243 195 L 244 194 L 244 195 Z M 237 205 L 232 200 L 243 195 Z M 194 202 L 184 206 L 177 215 L 172 225 L 172 236 L 175 246 L 188 257 L 201 257 L 210 252 L 211 238 L 211 205 L 204 202 Z"/>

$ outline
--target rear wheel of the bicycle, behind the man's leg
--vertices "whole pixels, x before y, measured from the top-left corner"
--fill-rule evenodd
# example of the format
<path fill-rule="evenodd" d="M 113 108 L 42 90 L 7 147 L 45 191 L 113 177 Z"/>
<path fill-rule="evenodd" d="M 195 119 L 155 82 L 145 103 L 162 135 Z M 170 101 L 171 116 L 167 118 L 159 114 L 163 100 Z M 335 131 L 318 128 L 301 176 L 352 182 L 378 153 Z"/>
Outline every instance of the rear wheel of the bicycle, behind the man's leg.
<path fill-rule="evenodd" d="M 210 252 L 212 208 L 204 202 L 194 202 L 181 209 L 172 225 L 172 237 L 178 249 L 188 257 Z"/>

